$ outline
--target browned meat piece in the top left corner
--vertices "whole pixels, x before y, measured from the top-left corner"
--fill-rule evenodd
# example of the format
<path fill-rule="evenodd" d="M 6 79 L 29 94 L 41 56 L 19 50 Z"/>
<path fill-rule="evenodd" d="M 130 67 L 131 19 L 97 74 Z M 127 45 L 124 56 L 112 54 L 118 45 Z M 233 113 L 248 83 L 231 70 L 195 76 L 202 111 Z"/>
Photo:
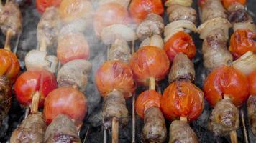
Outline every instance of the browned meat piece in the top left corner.
<path fill-rule="evenodd" d="M 6 3 L 1 11 L 0 28 L 4 34 L 11 30 L 12 36 L 22 32 L 22 14 L 17 4 L 14 4 L 12 1 Z"/>

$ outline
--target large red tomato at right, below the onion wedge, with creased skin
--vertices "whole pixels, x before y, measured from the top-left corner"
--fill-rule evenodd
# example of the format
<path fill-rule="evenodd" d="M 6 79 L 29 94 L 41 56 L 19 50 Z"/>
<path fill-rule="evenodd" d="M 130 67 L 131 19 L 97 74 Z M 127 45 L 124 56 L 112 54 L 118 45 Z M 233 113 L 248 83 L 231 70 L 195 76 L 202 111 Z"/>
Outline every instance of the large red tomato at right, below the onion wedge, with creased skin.
<path fill-rule="evenodd" d="M 249 96 L 249 84 L 247 77 L 237 69 L 229 66 L 221 66 L 211 71 L 204 82 L 204 94 L 206 100 L 215 106 L 224 95 L 240 107 Z"/>

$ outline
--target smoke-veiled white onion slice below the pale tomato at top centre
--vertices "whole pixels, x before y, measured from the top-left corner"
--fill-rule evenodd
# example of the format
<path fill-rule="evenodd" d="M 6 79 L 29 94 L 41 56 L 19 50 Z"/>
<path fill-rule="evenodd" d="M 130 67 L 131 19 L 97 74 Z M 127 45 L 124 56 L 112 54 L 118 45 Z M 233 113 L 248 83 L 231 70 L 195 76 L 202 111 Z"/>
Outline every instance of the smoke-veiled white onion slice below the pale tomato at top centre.
<path fill-rule="evenodd" d="M 116 39 L 135 41 L 137 40 L 137 35 L 132 28 L 123 24 L 113 24 L 105 27 L 101 31 L 101 40 L 104 42 L 104 44 L 112 44 Z"/>

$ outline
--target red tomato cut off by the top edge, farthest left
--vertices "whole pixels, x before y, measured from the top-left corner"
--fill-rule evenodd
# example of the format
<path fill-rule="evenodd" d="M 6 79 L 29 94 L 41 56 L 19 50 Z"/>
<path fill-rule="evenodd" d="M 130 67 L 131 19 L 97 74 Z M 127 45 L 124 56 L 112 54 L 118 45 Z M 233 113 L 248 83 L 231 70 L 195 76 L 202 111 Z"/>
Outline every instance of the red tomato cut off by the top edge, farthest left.
<path fill-rule="evenodd" d="M 37 11 L 42 14 L 47 7 L 50 6 L 60 6 L 60 2 L 62 0 L 37 0 L 35 1 L 35 6 L 37 7 Z"/>

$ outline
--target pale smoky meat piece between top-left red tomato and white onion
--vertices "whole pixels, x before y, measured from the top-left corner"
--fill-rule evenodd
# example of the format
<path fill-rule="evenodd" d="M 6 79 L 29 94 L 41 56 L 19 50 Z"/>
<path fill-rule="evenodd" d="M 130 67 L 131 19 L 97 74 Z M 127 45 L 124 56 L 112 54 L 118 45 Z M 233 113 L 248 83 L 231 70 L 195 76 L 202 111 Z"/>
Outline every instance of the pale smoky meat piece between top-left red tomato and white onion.
<path fill-rule="evenodd" d="M 46 46 L 54 45 L 57 43 L 59 30 L 60 18 L 58 8 L 47 8 L 37 24 L 37 39 L 40 44 L 45 42 Z"/>

